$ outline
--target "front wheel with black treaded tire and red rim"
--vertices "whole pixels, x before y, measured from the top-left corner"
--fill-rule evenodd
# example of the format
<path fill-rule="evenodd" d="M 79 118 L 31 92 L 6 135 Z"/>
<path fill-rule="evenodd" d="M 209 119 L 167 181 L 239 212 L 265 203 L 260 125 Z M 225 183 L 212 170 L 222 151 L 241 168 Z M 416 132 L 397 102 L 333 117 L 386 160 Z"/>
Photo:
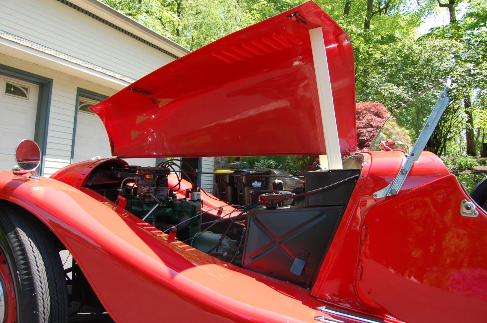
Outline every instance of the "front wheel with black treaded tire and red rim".
<path fill-rule="evenodd" d="M 0 322 L 67 321 L 68 292 L 54 235 L 19 206 L 0 203 Z"/>

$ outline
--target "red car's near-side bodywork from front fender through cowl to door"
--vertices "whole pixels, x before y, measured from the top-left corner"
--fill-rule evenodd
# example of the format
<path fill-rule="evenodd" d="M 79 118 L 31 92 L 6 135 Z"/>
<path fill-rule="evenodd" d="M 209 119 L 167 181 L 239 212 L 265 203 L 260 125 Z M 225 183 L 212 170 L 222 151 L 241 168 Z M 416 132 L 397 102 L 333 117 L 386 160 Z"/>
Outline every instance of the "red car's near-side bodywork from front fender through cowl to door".
<path fill-rule="evenodd" d="M 460 215 L 460 201 L 469 197 L 428 152 L 398 195 L 375 200 L 372 194 L 392 181 L 404 153 L 363 155 L 361 176 L 311 292 L 168 241 L 85 187 L 3 172 L 0 198 L 53 230 L 117 322 L 153 322 L 161 304 L 178 308 L 165 311 L 178 322 L 313 322 L 321 315 L 315 307 L 323 304 L 314 297 L 407 322 L 449 321 L 452 308 L 457 321 L 485 317 L 487 215 Z M 364 226 L 367 233 L 361 234 Z M 123 301 L 128 294 L 130 304 Z"/>

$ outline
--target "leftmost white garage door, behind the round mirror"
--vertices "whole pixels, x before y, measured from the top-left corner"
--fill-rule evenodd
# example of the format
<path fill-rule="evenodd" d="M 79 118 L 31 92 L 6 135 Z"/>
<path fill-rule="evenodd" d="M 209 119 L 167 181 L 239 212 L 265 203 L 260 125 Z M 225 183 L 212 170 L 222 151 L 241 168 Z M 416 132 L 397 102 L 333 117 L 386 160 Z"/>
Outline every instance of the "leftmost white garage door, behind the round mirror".
<path fill-rule="evenodd" d="M 39 85 L 0 75 L 0 170 L 15 165 L 22 139 L 34 139 Z"/>

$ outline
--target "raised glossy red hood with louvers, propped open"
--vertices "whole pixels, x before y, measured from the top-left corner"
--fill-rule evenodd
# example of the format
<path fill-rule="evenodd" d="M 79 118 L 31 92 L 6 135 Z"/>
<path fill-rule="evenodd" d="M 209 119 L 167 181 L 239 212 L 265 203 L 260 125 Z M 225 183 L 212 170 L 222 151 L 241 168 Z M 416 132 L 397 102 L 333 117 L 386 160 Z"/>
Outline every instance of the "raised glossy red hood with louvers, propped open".
<path fill-rule="evenodd" d="M 326 153 L 309 32 L 317 27 L 340 151 L 355 152 L 352 44 L 310 1 L 191 52 L 91 107 L 105 124 L 112 155 Z"/>

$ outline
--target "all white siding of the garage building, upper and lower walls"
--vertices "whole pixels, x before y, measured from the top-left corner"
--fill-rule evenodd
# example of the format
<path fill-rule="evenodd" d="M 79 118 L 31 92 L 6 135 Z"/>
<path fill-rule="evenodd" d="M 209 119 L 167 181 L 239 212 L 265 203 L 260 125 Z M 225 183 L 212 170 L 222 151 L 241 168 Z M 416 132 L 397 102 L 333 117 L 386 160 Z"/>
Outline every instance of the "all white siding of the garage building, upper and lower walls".
<path fill-rule="evenodd" d="M 79 4 L 82 7 L 82 3 Z M 114 25 L 118 22 L 120 21 L 116 19 L 110 21 Z M 115 82 L 107 81 L 103 79 L 103 75 L 93 76 L 95 74 L 91 75 L 90 71 L 79 72 L 76 67 L 65 66 L 63 62 L 53 64 L 54 61 L 43 56 L 45 52 L 37 56 L 36 52 L 31 51 L 32 48 L 22 52 L 0 47 L 5 50 L 0 52 L 0 64 L 53 79 L 44 176 L 52 175 L 72 161 L 78 88 L 111 96 L 125 87 L 126 82 L 131 79 L 140 79 L 174 59 L 174 55 L 169 56 L 57 0 L 2 0 L 0 31 L 25 40 L 24 43 L 19 43 L 21 46 L 29 46 L 27 42 L 32 42 L 46 50 L 55 50 L 59 54 L 81 60 L 81 63 L 90 63 L 82 66 L 91 65 L 91 68 L 104 69 L 106 73 L 114 72 L 122 77 Z M 138 38 L 143 34 L 135 36 Z M 34 50 L 40 51 L 35 47 Z M 46 66 L 43 65 L 44 62 Z M 84 75 L 91 81 L 83 79 Z M 77 142 L 76 138 L 75 141 Z M 127 161 L 142 166 L 155 165 L 155 158 Z M 203 159 L 202 171 L 213 172 L 212 157 Z M 202 176 L 202 187 L 208 192 L 212 191 L 212 181 L 212 175 Z"/>

